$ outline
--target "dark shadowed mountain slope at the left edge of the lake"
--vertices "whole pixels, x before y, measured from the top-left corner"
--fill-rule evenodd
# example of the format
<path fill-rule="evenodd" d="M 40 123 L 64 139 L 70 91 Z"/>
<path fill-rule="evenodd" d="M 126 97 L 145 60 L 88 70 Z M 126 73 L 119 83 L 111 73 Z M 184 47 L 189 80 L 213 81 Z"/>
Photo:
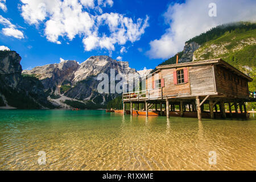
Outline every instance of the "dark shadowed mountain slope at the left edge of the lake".
<path fill-rule="evenodd" d="M 15 51 L 0 51 L 0 108 L 52 109 L 44 86 L 35 77 L 23 76 L 21 57 Z"/>

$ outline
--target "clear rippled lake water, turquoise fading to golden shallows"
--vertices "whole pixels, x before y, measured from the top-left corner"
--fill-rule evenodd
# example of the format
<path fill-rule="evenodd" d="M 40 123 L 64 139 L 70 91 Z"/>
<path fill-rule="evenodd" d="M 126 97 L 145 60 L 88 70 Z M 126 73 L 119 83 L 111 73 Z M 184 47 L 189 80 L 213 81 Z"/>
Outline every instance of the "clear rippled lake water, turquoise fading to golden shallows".
<path fill-rule="evenodd" d="M 0 110 L 0 170 L 255 170 L 255 159 L 255 119 Z"/>

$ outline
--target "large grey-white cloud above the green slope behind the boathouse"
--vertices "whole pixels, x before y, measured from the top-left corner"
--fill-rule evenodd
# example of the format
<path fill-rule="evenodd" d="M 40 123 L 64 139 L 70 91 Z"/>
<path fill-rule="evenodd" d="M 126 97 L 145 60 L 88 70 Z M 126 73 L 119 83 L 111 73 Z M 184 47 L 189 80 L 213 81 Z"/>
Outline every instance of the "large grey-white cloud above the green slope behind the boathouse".
<path fill-rule="evenodd" d="M 217 16 L 209 16 L 209 3 L 216 3 Z M 187 0 L 170 5 L 164 19 L 170 26 L 160 39 L 150 42 L 147 55 L 151 59 L 167 59 L 183 49 L 184 43 L 220 24 L 256 22 L 255 0 Z"/>

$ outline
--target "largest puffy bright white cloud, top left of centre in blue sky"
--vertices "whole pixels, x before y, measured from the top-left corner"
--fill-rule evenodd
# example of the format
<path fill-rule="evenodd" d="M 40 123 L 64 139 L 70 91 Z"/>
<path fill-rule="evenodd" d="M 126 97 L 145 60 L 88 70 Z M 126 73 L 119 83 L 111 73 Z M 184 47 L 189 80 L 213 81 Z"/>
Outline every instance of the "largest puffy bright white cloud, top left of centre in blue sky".
<path fill-rule="evenodd" d="M 115 44 L 133 43 L 141 38 L 148 26 L 146 19 L 127 18 L 118 13 L 104 13 L 102 7 L 112 7 L 112 0 L 21 0 L 22 16 L 29 24 L 44 24 L 49 42 L 61 44 L 60 38 L 82 37 L 85 51 L 101 48 L 115 50 Z M 90 13 L 94 10 L 94 14 Z M 108 27 L 100 32 L 99 27 Z"/>

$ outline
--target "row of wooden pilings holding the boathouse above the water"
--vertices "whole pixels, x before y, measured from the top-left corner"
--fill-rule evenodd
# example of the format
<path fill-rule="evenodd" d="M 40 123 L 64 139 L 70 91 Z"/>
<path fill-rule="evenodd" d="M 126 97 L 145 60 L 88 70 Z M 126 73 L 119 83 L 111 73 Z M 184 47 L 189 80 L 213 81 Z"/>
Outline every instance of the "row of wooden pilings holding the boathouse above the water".
<path fill-rule="evenodd" d="M 209 97 L 209 96 L 208 96 Z M 164 100 L 145 100 L 145 101 L 129 101 L 129 102 L 123 102 L 123 114 L 129 110 L 129 104 L 130 104 L 130 113 L 133 114 L 133 110 L 144 110 L 144 114 L 142 113 L 136 113 L 139 115 L 145 115 L 146 116 L 151 115 L 151 112 L 148 110 L 152 110 L 152 112 L 155 112 L 153 110 L 156 110 L 158 115 L 166 115 L 167 118 L 170 117 L 170 115 L 179 115 L 180 117 L 191 117 L 192 115 L 195 115 L 196 113 L 193 113 L 194 111 L 197 111 L 197 118 L 199 120 L 202 119 L 202 117 L 205 118 L 241 118 L 245 117 L 246 113 L 246 103 L 243 100 L 225 100 L 223 98 L 214 98 L 214 97 L 205 97 L 203 99 L 203 96 L 196 96 L 193 98 L 190 98 L 189 100 L 180 98 L 179 100 L 175 100 L 172 98 L 165 98 Z M 201 100 L 200 100 L 201 98 Z M 203 107 L 205 106 L 205 108 Z M 209 105 L 209 110 L 208 110 Z M 234 105 L 235 113 L 232 113 L 232 107 Z M 176 106 L 176 109 L 175 109 Z M 178 111 L 179 106 L 179 112 Z M 226 110 L 225 110 L 226 107 Z M 241 111 L 238 113 L 238 107 Z M 205 111 L 203 110 L 205 109 Z M 220 110 L 218 110 L 220 108 Z M 214 111 L 215 109 L 215 111 Z M 176 112 L 174 112 L 176 110 Z M 188 112 L 189 111 L 189 112 Z"/>

